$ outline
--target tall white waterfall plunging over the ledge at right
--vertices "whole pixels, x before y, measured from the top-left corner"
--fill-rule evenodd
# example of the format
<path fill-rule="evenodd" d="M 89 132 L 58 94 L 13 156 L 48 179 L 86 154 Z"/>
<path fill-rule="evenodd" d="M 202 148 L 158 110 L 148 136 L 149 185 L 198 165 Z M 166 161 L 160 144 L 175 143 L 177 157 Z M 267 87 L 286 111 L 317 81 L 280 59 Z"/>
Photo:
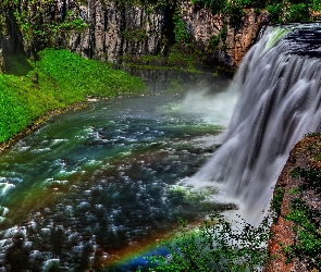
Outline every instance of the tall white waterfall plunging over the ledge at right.
<path fill-rule="evenodd" d="M 321 131 L 320 54 L 321 24 L 267 29 L 231 86 L 240 95 L 223 145 L 189 182 L 219 186 L 260 218 L 291 149 Z"/>

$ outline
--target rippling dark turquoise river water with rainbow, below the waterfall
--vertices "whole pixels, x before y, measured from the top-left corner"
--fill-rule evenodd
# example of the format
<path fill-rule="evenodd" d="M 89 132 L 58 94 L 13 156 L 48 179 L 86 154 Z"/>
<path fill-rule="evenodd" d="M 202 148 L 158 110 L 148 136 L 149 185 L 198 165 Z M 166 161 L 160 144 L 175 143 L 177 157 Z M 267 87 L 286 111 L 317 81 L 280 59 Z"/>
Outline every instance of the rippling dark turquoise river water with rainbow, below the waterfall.
<path fill-rule="evenodd" d="M 203 112 L 183 95 L 92 102 L 3 152 L 2 270 L 135 271 L 145 263 L 135 254 L 169 238 L 178 218 L 224 209 L 213 189 L 184 186 L 224 128 Z"/>

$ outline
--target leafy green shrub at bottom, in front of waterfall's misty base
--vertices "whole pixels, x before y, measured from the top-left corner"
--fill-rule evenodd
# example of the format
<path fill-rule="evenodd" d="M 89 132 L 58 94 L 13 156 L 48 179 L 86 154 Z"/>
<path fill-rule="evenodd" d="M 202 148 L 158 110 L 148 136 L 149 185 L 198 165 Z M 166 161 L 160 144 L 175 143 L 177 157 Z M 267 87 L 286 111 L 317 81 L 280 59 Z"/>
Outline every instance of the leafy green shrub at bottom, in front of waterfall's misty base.
<path fill-rule="evenodd" d="M 180 220 L 181 232 L 171 243 L 168 257 L 153 256 L 152 271 L 259 271 L 268 261 L 263 245 L 270 235 L 269 219 L 254 227 L 244 220 L 227 221 L 211 214 L 198 230 Z"/>

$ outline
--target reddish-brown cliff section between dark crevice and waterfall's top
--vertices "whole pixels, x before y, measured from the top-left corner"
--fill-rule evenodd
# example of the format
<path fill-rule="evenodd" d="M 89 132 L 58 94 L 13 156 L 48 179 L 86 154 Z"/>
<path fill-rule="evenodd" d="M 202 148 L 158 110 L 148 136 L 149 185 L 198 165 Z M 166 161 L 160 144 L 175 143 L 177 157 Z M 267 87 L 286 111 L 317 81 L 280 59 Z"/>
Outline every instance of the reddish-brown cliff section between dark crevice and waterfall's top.
<path fill-rule="evenodd" d="M 196 9 L 190 1 L 182 1 L 183 20 L 198 48 L 207 49 L 212 36 L 219 35 L 224 26 L 219 14 L 212 14 L 208 9 Z M 256 14 L 254 9 L 245 10 L 239 25 L 227 25 L 226 49 L 219 45 L 212 50 L 212 55 L 229 66 L 238 66 L 243 57 L 255 44 L 262 25 L 269 23 L 269 14 L 263 11 Z"/>

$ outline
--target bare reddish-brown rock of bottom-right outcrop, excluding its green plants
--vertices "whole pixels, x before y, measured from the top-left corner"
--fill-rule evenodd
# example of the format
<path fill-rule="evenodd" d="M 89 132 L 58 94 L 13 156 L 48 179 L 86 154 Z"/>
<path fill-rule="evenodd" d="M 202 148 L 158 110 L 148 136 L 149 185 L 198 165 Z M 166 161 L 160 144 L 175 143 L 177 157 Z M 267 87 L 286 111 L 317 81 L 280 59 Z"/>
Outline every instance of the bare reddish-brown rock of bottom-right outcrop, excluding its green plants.
<path fill-rule="evenodd" d="M 320 154 L 320 136 L 301 139 L 292 150 L 276 182 L 275 187 L 283 188 L 284 196 L 281 202 L 281 213 L 271 227 L 272 236 L 268 243 L 269 252 L 272 255 L 272 261 L 263 269 L 263 272 L 313 271 L 313 265 L 309 263 L 307 257 L 298 256 L 289 260 L 285 255 L 284 248 L 286 246 L 296 245 L 299 242 L 294 232 L 296 225 L 286 219 L 286 215 L 288 215 L 292 210 L 291 205 L 294 198 L 299 197 L 309 209 L 321 212 L 320 194 L 310 189 L 306 189 L 299 195 L 293 194 L 293 189 L 304 184 L 305 181 L 291 175 L 291 171 L 298 166 L 305 170 L 313 168 L 321 171 L 321 162 L 316 160 L 316 156 Z M 274 190 L 274 195 L 275 194 L 276 190 Z"/>

